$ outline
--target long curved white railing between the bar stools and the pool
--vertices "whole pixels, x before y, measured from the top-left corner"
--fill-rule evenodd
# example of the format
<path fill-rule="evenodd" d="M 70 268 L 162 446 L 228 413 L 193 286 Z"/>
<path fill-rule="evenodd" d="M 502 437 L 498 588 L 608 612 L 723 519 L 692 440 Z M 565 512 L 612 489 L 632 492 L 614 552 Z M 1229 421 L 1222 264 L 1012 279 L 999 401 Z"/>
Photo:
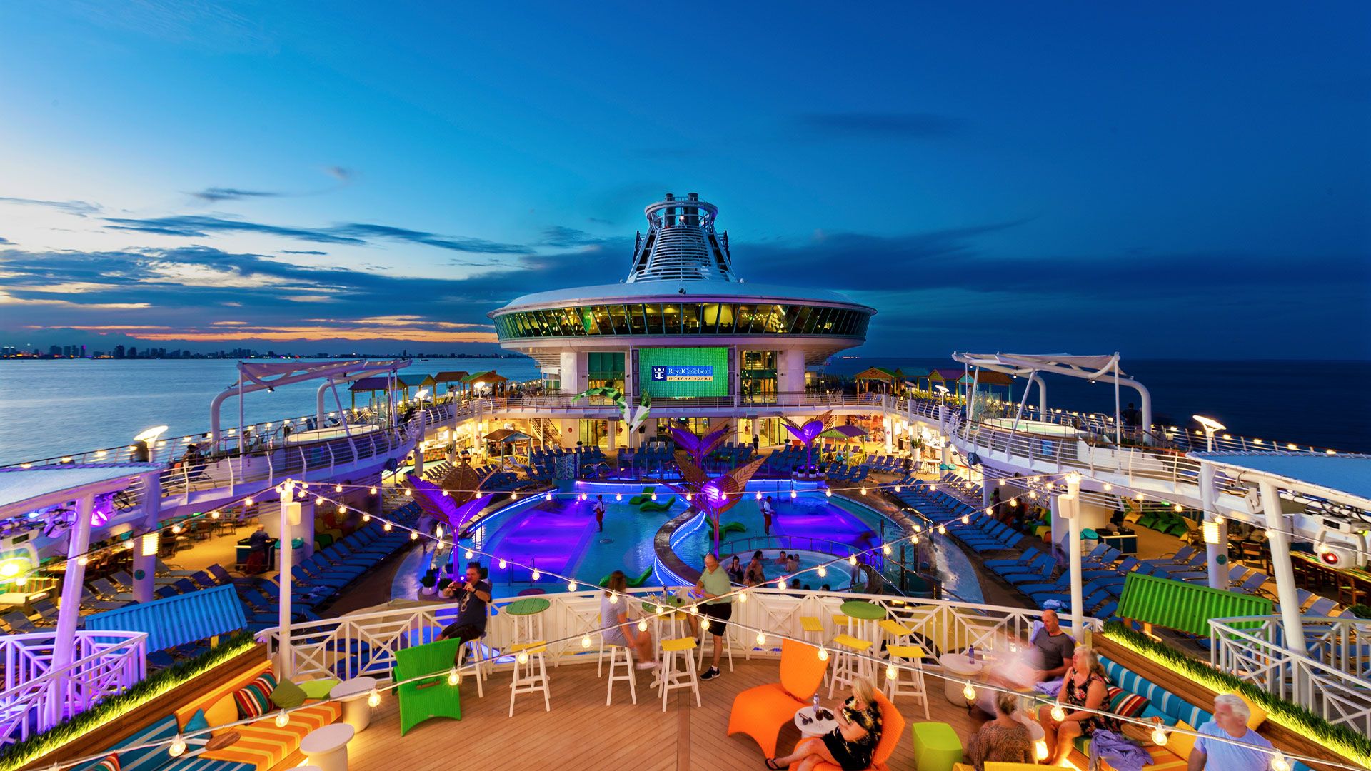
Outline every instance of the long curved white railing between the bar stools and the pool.
<path fill-rule="evenodd" d="M 661 595 L 668 590 L 644 587 L 629 591 L 646 602 L 650 597 Z M 547 610 L 533 616 L 535 623 L 542 624 L 542 631 L 536 637 L 550 643 L 548 653 L 559 663 L 568 660 L 594 661 L 599 650 L 599 591 L 542 594 L 539 597 L 550 602 Z M 515 642 L 529 642 L 526 634 L 515 639 L 515 634 L 526 628 L 529 616 L 515 617 L 499 610 L 517 600 L 521 598 L 499 598 L 492 602 L 496 610 L 488 621 L 484 643 L 492 649 L 496 657 Z M 975 645 L 978 650 L 1004 650 L 1010 645 L 1021 646 L 1027 641 L 1032 623 L 1041 615 L 1039 610 L 1027 608 L 910 600 L 876 594 L 783 591 L 753 587 L 747 590 L 746 602 L 733 602 L 733 616 L 729 624 L 731 645 L 747 656 L 776 656 L 780 641 L 772 637 L 766 645 L 758 646 L 757 630 L 764 630 L 771 635 L 805 639 L 801 616 L 823 619 L 828 630 L 824 635 L 827 642 L 839 631 L 836 627 L 829 628 L 834 615 L 840 613 L 840 605 L 849 600 L 865 600 L 886 608 L 890 617 L 910 627 L 916 638 L 923 638 L 921 642 L 934 659 L 941 653 L 962 650 L 969 645 Z M 683 634 L 670 630 L 669 617 L 654 616 L 633 605 L 629 606 L 629 610 L 631 616 L 651 619 L 654 621 L 651 628 L 658 639 Z M 292 671 L 302 678 L 348 679 L 365 675 L 381 680 L 389 679 L 396 650 L 430 642 L 441 627 L 452 621 L 455 615 L 455 604 L 433 604 L 295 624 L 291 627 L 289 635 Z M 1097 620 L 1089 619 L 1089 623 L 1093 628 L 1098 628 Z M 592 639 L 588 649 L 581 645 L 581 637 L 587 634 Z M 258 637 L 266 639 L 271 656 L 280 654 L 278 628 L 266 630 Z"/>

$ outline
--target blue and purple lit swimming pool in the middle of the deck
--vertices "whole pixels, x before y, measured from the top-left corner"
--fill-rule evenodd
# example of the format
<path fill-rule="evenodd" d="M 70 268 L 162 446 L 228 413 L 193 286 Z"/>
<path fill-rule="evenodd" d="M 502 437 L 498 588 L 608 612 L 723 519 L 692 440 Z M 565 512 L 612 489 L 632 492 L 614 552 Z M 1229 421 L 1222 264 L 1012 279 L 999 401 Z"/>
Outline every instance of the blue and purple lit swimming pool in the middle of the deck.
<path fill-rule="evenodd" d="M 791 497 L 791 488 L 795 497 Z M 528 589 L 543 589 L 546 591 L 561 591 L 566 589 L 565 579 L 557 576 L 574 576 L 580 584 L 599 583 L 613 571 L 624 571 L 629 579 L 635 579 L 654 571 L 657 553 L 654 538 L 662 524 L 686 513 L 687 503 L 680 497 L 665 487 L 657 488 L 657 501 L 643 498 L 640 503 L 631 502 L 635 495 L 640 495 L 642 484 L 614 484 L 599 482 L 579 482 L 574 491 L 585 494 L 585 501 L 580 495 L 554 497 L 551 501 L 542 495 L 532 495 L 505 506 L 491 514 L 472 530 L 470 538 L 463 539 L 459 549 L 468 547 L 494 554 L 484 562 L 489 569 L 489 580 L 496 597 L 510 597 Z M 720 553 L 725 561 L 731 554 L 738 553 L 746 562 L 753 550 L 762 549 L 768 558 L 766 575 L 771 579 L 783 575 L 783 568 L 775 561 L 781 549 L 798 550 L 802 568 L 816 567 L 820 562 L 832 560 L 831 554 L 847 554 L 879 547 L 887 535 L 895 538 L 899 528 L 875 509 L 869 509 L 857 502 L 840 498 L 825 497 L 814 483 L 790 483 L 783 480 L 753 480 L 747 484 L 747 491 L 753 495 L 744 497 L 736 506 L 723 514 L 721 524 L 739 523 L 740 532 L 723 535 Z M 761 501 L 755 497 L 761 494 L 772 497 L 776 516 L 772 521 L 771 536 L 766 538 Z M 602 497 L 605 502 L 603 531 L 596 527 L 595 501 Z M 670 505 L 668 506 L 668 499 Z M 644 512 L 642 503 L 655 503 L 665 510 Z M 651 505 L 648 508 L 653 508 Z M 736 530 L 736 525 L 735 525 Z M 810 541 L 813 539 L 813 541 Z M 703 517 L 691 520 L 672 536 L 672 549 L 676 556 L 688 565 L 702 567 L 703 557 L 713 546 L 713 530 Z M 956 575 L 964 565 L 965 556 L 957 551 L 951 560 L 941 558 L 938 564 L 949 573 Z M 956 557 L 961 557 L 957 560 Z M 498 560 L 509 561 L 506 568 L 500 568 Z M 458 557 L 458 564 L 463 562 Z M 880 567 L 883 561 L 880 553 L 866 558 Z M 440 557 L 439 562 L 446 562 Z M 428 568 L 429 560 L 421 558 L 411 564 L 407 561 L 402 573 L 422 572 Z M 536 567 L 540 580 L 532 578 L 532 568 Z M 969 565 L 967 565 L 969 567 Z M 824 583 L 832 589 L 847 589 L 851 583 L 849 565 L 836 562 L 827 568 L 827 576 L 805 573 L 801 584 L 818 589 Z M 658 575 L 647 578 L 648 584 L 662 583 L 661 569 Z M 400 580 L 404 586 L 402 589 Z M 403 575 L 395 587 L 396 595 L 413 597 L 414 579 Z M 971 582 L 975 586 L 975 579 Z M 961 587 L 958 594 L 973 594 L 979 598 L 979 587 L 969 591 Z"/>

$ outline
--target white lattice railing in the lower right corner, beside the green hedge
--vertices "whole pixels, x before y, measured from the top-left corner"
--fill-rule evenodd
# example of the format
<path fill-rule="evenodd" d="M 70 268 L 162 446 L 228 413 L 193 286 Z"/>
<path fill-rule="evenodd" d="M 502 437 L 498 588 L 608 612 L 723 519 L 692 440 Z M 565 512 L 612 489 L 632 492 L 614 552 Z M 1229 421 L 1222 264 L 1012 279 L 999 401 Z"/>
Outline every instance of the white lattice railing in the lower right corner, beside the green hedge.
<path fill-rule="evenodd" d="M 1211 664 L 1334 726 L 1371 735 L 1371 680 L 1356 671 L 1357 665 L 1364 671 L 1371 664 L 1366 650 L 1371 645 L 1371 621 L 1308 617 L 1304 624 L 1309 654 L 1283 646 L 1279 616 L 1211 619 Z M 1360 664 L 1355 664 L 1357 659 Z"/>

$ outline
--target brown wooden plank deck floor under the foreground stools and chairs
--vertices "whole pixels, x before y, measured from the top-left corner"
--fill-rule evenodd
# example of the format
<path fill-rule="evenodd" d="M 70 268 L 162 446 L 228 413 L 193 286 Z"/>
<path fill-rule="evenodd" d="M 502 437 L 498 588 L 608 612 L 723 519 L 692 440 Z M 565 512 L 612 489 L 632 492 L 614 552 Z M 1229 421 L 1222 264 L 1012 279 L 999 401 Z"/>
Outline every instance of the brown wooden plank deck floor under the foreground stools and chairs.
<path fill-rule="evenodd" d="M 739 734 L 728 735 L 728 713 L 739 691 L 776 682 L 777 660 L 735 661 L 729 672 L 701 683 L 701 704 L 676 691 L 661 709 L 661 696 L 650 690 L 650 672 L 638 672 L 638 704 L 628 700 L 624 683 L 616 683 L 614 704 L 605 707 L 606 682 L 595 667 L 563 664 L 551 668 L 553 711 L 544 712 L 540 696 L 520 696 L 509 717 L 509 672 L 496 672 L 477 698 L 474 683 L 462 683 L 462 720 L 435 719 L 400 737 L 395 697 L 387 694 L 373 712 L 370 727 L 350 745 L 351 771 L 420 768 L 632 768 L 635 771 L 762 768 L 757 744 Z M 932 720 L 953 726 L 965 742 L 979 726 L 965 708 L 942 697 L 942 682 L 930 678 Z M 820 691 L 827 696 L 827 687 Z M 835 701 L 838 694 L 835 693 Z M 827 702 L 827 700 L 825 700 Z M 923 720 L 923 705 L 912 697 L 897 700 L 910 723 Z M 799 731 L 787 726 L 780 752 L 788 752 Z M 913 768 L 909 727 L 891 759 L 891 768 Z"/>

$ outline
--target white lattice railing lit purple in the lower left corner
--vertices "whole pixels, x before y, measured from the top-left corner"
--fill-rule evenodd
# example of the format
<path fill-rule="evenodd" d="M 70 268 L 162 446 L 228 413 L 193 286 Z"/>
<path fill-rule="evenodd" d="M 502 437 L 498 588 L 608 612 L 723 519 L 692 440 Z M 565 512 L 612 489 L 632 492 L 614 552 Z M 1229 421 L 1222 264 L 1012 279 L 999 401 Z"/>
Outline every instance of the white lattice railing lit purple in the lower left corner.
<path fill-rule="evenodd" d="M 74 660 L 53 669 L 55 632 L 0 637 L 0 746 L 47 731 L 141 680 L 147 641 L 143 632 L 78 631 Z"/>

